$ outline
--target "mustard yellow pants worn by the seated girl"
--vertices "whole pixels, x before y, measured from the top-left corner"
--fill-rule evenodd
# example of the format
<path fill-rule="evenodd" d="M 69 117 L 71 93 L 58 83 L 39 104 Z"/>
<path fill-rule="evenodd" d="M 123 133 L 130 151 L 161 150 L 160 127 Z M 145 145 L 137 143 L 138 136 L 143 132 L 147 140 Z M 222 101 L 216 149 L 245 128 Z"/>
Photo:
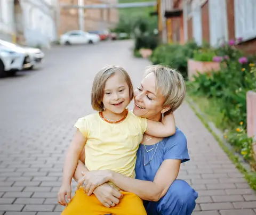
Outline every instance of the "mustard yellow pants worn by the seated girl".
<path fill-rule="evenodd" d="M 139 196 L 128 192 L 122 194 L 123 198 L 116 206 L 107 208 L 94 194 L 88 196 L 83 188 L 80 188 L 61 215 L 147 215 Z"/>

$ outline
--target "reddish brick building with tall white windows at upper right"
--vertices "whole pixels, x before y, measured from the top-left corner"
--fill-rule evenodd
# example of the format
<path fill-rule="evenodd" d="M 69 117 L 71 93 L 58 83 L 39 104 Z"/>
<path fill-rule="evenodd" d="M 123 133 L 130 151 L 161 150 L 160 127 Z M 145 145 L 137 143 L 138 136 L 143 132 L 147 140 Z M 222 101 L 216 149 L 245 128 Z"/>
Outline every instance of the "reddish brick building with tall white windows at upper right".
<path fill-rule="evenodd" d="M 163 41 L 218 46 L 242 38 L 237 47 L 256 54 L 255 0 L 158 0 L 158 19 Z"/>

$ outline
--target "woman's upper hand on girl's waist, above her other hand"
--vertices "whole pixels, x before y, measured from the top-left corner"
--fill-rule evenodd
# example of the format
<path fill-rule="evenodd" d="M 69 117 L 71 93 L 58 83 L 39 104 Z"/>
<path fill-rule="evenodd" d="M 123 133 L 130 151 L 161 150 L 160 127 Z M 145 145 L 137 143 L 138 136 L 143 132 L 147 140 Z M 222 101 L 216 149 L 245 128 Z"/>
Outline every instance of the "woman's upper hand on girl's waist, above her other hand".
<path fill-rule="evenodd" d="M 82 175 L 83 177 L 77 181 L 77 189 L 82 186 L 87 195 L 90 196 L 96 187 L 106 183 L 109 180 L 111 171 L 99 170 L 86 173 L 82 172 Z"/>

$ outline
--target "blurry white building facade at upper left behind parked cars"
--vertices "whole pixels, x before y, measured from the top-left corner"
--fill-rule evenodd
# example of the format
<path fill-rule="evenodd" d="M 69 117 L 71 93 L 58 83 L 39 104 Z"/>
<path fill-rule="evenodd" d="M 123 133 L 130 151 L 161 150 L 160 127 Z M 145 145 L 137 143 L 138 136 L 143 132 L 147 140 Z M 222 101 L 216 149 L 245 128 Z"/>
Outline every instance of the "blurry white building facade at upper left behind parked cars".
<path fill-rule="evenodd" d="M 57 40 L 58 0 L 0 0 L 0 38 L 30 46 Z"/>

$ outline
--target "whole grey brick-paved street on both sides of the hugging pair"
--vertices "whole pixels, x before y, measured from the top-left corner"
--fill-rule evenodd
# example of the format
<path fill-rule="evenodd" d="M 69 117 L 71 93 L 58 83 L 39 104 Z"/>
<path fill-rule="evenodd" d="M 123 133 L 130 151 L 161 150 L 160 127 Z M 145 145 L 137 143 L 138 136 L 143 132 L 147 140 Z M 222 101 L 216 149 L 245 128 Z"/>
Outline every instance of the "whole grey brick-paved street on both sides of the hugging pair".
<path fill-rule="evenodd" d="M 121 65 L 135 88 L 150 65 L 133 57 L 132 45 L 124 40 L 53 47 L 40 69 L 0 79 L 0 215 L 60 214 L 65 151 L 76 120 L 92 112 L 95 73 Z M 188 138 L 191 158 L 179 178 L 199 194 L 193 215 L 255 215 L 256 195 L 187 103 L 175 120 Z"/>

